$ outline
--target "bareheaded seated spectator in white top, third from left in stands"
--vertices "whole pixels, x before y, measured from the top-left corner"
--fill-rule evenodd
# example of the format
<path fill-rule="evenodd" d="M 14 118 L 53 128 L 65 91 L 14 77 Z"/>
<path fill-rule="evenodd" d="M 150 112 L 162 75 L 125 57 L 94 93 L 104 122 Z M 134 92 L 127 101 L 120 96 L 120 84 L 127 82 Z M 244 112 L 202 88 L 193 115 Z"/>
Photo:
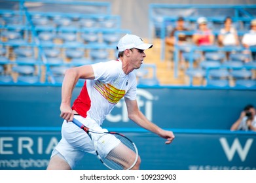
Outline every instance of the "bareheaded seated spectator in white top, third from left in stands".
<path fill-rule="evenodd" d="M 238 46 L 238 33 L 234 27 L 232 27 L 232 19 L 228 16 L 224 21 L 224 27 L 221 29 L 218 35 L 218 41 L 220 46 Z"/>

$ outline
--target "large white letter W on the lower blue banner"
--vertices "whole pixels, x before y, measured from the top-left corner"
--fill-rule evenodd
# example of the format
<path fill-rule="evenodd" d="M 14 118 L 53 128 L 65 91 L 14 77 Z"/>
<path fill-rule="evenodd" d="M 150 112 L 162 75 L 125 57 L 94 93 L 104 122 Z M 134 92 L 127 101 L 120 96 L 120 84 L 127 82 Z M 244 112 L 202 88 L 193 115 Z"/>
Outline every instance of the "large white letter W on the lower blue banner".
<path fill-rule="evenodd" d="M 232 161 L 234 158 L 234 154 L 237 152 L 238 156 L 240 157 L 241 161 L 245 161 L 247 154 L 251 148 L 251 144 L 253 144 L 253 139 L 247 139 L 246 144 L 244 144 L 244 147 L 242 147 L 240 141 L 238 138 L 234 139 L 231 145 L 227 142 L 226 138 L 220 138 L 219 141 L 221 142 L 221 146 L 229 159 L 229 161 Z"/>

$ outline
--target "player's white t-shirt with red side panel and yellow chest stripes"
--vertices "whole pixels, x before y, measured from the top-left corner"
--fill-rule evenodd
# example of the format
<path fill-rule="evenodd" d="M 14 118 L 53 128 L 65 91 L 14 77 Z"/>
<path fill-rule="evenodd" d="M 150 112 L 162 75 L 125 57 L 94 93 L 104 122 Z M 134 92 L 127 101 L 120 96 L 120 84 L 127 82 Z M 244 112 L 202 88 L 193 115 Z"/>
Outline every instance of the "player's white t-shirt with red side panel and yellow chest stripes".
<path fill-rule="evenodd" d="M 72 108 L 101 125 L 122 97 L 136 99 L 136 75 L 133 72 L 126 75 L 119 59 L 95 63 L 92 69 L 95 79 L 86 80 Z"/>

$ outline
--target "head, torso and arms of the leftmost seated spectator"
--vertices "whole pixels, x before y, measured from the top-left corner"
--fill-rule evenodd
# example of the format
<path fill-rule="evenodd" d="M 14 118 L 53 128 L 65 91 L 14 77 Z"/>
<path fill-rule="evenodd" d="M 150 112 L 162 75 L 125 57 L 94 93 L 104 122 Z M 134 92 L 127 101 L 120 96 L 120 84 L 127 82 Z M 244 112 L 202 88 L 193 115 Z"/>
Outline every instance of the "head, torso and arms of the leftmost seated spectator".
<path fill-rule="evenodd" d="M 172 32 L 170 33 L 170 37 L 166 37 L 166 44 L 170 45 L 170 46 L 174 46 L 174 44 L 185 44 L 187 43 L 187 39 L 189 38 L 189 35 L 185 35 L 183 33 L 180 33 L 178 35 L 178 40 L 175 40 L 175 32 L 176 31 L 189 31 L 189 29 L 187 29 L 185 26 L 185 22 L 184 22 L 184 18 L 183 17 L 179 17 L 176 21 L 176 27 L 172 30 Z"/>

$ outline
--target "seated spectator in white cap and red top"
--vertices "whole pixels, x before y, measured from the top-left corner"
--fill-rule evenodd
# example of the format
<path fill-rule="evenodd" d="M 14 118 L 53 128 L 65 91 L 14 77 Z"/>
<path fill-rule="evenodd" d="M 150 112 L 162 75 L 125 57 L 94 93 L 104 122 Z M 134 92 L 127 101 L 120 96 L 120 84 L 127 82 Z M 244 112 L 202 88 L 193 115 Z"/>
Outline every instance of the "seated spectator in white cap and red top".
<path fill-rule="evenodd" d="M 197 20 L 198 31 L 192 35 L 192 41 L 197 46 L 212 45 L 215 41 L 215 37 L 212 31 L 208 28 L 208 22 L 205 17 L 200 17 Z"/>

